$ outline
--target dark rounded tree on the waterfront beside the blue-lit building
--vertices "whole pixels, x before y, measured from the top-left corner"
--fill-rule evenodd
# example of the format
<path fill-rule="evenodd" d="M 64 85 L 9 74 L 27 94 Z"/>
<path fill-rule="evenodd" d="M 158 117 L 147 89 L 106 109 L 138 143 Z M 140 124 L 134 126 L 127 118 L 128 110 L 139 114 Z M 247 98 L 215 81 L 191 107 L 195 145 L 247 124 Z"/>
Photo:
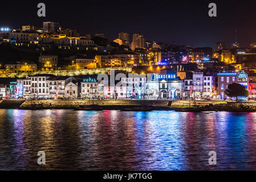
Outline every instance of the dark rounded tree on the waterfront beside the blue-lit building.
<path fill-rule="evenodd" d="M 225 90 L 226 96 L 229 97 L 235 97 L 237 100 L 237 97 L 248 97 L 249 96 L 249 91 L 246 89 L 245 86 L 241 84 L 229 84 L 227 86 L 227 89 Z"/>

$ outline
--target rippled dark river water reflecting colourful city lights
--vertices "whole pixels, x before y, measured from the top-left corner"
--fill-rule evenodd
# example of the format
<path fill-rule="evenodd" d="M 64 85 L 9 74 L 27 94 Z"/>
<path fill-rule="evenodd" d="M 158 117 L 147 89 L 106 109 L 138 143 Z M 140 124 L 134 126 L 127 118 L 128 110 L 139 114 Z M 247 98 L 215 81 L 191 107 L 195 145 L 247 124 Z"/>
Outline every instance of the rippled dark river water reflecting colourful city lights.
<path fill-rule="evenodd" d="M 256 169 L 256 113 L 0 110 L 0 169 Z M 46 152 L 46 165 L 37 152 Z M 217 165 L 209 166 L 208 152 Z"/>

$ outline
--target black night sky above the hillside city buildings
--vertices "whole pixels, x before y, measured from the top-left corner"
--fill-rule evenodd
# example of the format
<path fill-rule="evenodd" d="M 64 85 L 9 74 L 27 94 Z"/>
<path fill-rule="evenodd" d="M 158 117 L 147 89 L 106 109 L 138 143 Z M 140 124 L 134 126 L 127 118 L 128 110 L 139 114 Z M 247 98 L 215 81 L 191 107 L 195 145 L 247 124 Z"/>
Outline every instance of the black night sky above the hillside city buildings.
<path fill-rule="evenodd" d="M 46 4 L 46 18 L 37 16 L 37 5 Z M 208 16 L 210 2 L 217 17 Z M 76 28 L 80 35 L 104 33 L 109 40 L 118 32 L 142 32 L 147 40 L 194 47 L 228 46 L 234 30 L 242 46 L 256 42 L 256 1 L 1 1 L 0 26 L 42 27 L 44 21 Z"/>

